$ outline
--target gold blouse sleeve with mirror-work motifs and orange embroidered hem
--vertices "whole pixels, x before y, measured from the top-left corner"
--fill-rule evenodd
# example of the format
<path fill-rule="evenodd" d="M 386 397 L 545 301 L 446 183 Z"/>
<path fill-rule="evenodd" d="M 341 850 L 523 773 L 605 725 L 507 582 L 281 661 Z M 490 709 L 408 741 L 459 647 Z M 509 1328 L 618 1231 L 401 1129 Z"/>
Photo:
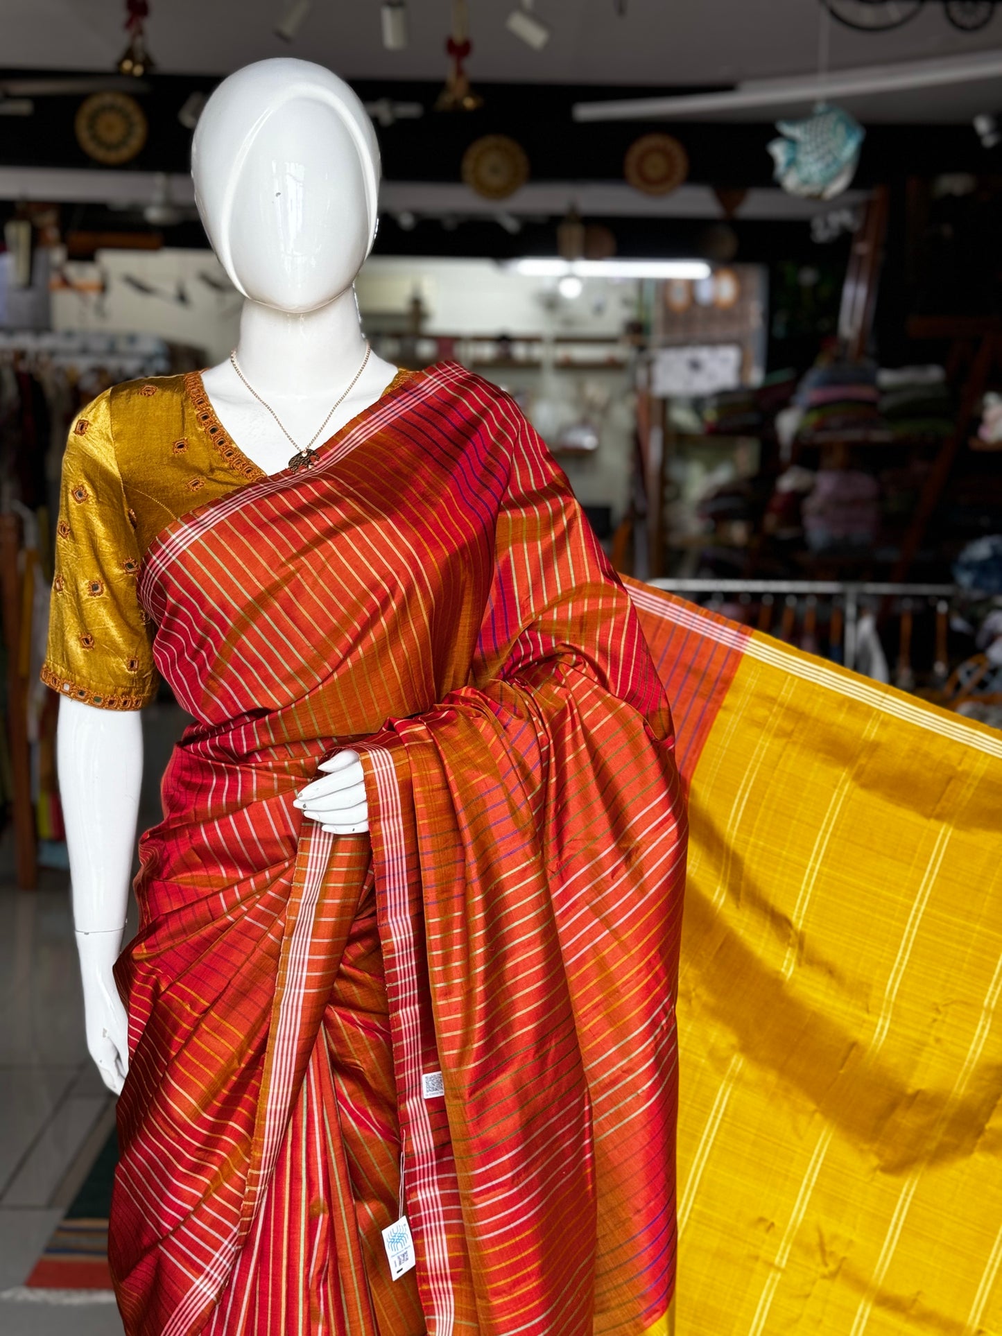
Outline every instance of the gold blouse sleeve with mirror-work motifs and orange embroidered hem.
<path fill-rule="evenodd" d="M 139 604 L 139 545 L 126 505 L 106 393 L 69 429 L 41 680 L 102 709 L 156 695 L 152 625 Z"/>

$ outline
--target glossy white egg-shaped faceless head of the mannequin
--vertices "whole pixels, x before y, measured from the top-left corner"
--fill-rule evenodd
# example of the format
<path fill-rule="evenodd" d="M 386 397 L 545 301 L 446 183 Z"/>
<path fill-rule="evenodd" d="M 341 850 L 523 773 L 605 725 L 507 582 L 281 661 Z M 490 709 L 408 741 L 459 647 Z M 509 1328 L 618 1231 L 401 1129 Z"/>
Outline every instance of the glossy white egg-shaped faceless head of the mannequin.
<path fill-rule="evenodd" d="M 236 290 L 313 311 L 351 286 L 375 238 L 379 148 L 349 86 L 307 60 L 230 75 L 191 146 L 195 200 Z"/>

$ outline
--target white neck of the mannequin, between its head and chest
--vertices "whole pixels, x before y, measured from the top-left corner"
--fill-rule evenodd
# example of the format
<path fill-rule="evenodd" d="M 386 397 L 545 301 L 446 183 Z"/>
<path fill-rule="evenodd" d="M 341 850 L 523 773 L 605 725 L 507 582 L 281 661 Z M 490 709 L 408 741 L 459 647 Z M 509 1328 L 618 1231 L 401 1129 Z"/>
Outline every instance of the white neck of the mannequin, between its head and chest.
<path fill-rule="evenodd" d="M 365 339 L 353 287 L 305 314 L 247 301 L 240 314 L 236 359 L 250 383 L 269 393 L 329 395 L 362 365 Z"/>

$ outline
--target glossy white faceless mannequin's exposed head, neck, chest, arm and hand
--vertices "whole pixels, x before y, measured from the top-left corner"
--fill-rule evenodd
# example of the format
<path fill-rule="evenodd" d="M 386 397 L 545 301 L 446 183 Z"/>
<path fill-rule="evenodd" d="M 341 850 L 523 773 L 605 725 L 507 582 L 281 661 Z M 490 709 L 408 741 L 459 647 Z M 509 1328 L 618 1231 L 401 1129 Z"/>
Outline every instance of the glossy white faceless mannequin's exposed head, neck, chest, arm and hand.
<path fill-rule="evenodd" d="M 262 60 L 210 98 L 192 144 L 206 232 L 246 301 L 236 358 L 305 446 L 362 366 L 354 281 L 377 223 L 379 151 L 347 84 L 305 60 Z M 329 438 L 382 394 L 397 367 L 369 355 Z M 204 373 L 226 430 L 266 473 L 295 449 L 228 361 Z M 128 1067 L 127 1019 L 112 966 L 122 945 L 135 847 L 143 736 L 139 712 L 61 697 L 59 776 L 80 951 L 87 1047 L 116 1094 Z M 358 754 L 323 763 L 295 806 L 334 834 L 369 830 Z"/>

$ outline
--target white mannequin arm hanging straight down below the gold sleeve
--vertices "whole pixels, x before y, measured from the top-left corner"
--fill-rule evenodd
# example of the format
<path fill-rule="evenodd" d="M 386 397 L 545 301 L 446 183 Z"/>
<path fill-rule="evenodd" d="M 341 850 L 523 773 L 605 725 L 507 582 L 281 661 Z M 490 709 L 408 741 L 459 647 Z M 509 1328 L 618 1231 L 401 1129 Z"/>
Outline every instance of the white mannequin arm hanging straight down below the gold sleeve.
<path fill-rule="evenodd" d="M 128 1027 L 112 966 L 126 925 L 143 779 L 139 712 L 63 697 L 56 744 L 87 1049 L 118 1094 L 128 1070 Z"/>

